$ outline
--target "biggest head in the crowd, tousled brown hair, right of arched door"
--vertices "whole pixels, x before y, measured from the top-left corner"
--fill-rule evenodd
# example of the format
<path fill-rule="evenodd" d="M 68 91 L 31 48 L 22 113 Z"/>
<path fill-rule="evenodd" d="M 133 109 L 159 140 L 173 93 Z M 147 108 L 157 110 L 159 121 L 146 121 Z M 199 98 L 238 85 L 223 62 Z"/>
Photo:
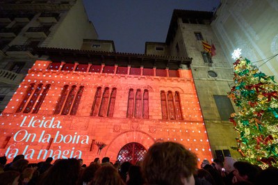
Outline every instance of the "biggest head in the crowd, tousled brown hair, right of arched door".
<path fill-rule="evenodd" d="M 195 184 L 197 157 L 174 142 L 155 143 L 142 162 L 148 184 Z"/>

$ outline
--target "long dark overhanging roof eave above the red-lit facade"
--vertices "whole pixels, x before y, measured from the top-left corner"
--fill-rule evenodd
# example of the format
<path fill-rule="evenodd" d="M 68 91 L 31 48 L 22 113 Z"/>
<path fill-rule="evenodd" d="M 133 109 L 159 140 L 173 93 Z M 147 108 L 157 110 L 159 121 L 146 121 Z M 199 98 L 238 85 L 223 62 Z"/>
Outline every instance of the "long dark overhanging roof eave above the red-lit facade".
<path fill-rule="evenodd" d="M 49 56 L 49 60 L 51 61 L 67 61 L 68 63 L 74 63 L 74 61 L 80 61 L 81 63 L 100 61 L 107 65 L 122 63 L 124 65 L 161 68 L 170 67 L 174 69 L 181 67 L 180 65 L 187 65 L 189 68 L 192 62 L 192 58 L 178 56 L 156 56 L 122 52 L 60 49 L 53 47 L 37 47 L 34 49 L 34 52 L 39 56 Z M 94 60 L 92 60 L 92 58 Z"/>

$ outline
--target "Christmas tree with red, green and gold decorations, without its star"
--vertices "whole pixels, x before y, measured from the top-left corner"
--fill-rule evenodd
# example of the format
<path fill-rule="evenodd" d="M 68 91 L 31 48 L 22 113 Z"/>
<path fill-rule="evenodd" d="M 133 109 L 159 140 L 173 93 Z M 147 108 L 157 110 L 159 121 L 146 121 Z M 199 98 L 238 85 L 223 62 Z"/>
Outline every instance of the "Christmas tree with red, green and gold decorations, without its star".
<path fill-rule="evenodd" d="M 268 168 L 278 167 L 278 86 L 274 77 L 260 72 L 250 61 L 234 63 L 234 83 L 228 96 L 238 107 L 230 122 L 238 131 L 237 147 L 242 161 Z"/>

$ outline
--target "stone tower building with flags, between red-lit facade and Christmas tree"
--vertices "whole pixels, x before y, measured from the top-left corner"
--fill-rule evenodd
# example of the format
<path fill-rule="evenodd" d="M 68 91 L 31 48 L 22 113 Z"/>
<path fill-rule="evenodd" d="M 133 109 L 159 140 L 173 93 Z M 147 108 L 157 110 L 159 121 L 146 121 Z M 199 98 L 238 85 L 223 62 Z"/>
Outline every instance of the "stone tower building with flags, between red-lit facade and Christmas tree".
<path fill-rule="evenodd" d="M 230 150 L 237 135 L 229 122 L 234 106 L 227 97 L 234 73 L 212 29 L 213 19 L 212 12 L 174 10 L 165 43 L 146 42 L 145 53 L 193 58 L 190 69 L 213 156 L 237 157 L 238 153 Z M 203 41 L 214 45 L 215 56 L 204 50 Z"/>

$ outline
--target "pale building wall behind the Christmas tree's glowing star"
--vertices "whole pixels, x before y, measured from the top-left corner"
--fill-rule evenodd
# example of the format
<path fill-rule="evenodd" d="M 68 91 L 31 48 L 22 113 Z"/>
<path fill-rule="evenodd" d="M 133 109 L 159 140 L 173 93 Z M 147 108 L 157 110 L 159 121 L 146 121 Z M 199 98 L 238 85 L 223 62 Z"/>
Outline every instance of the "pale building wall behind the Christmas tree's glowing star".
<path fill-rule="evenodd" d="M 211 26 L 229 63 L 234 62 L 231 53 L 239 48 L 242 56 L 277 79 L 277 17 L 278 1 L 222 0 Z"/>

